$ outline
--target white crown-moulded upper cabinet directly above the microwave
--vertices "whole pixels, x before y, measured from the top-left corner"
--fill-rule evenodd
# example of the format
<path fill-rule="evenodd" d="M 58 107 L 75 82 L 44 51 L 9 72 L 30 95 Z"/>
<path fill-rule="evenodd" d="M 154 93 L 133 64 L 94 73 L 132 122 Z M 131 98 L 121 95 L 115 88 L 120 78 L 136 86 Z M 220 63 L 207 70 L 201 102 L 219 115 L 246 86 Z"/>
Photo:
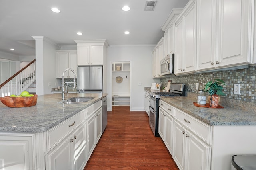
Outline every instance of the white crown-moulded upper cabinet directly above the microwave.
<path fill-rule="evenodd" d="M 174 21 L 181 11 L 182 9 L 172 9 L 161 28 L 164 31 L 164 57 L 174 53 Z"/>

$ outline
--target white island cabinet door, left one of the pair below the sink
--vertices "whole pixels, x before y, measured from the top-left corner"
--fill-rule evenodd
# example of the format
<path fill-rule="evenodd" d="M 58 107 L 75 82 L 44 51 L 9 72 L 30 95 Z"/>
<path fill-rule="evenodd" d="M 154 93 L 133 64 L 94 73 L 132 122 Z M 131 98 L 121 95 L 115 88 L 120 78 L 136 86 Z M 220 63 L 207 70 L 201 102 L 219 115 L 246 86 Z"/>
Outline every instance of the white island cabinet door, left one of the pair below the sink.
<path fill-rule="evenodd" d="M 96 119 L 95 117 L 96 116 L 95 114 L 93 114 L 87 121 L 86 121 L 86 124 L 87 124 L 87 128 L 86 128 L 86 135 L 87 135 L 87 159 L 90 158 L 91 154 L 92 154 L 92 151 L 95 147 L 95 122 L 96 122 Z"/>

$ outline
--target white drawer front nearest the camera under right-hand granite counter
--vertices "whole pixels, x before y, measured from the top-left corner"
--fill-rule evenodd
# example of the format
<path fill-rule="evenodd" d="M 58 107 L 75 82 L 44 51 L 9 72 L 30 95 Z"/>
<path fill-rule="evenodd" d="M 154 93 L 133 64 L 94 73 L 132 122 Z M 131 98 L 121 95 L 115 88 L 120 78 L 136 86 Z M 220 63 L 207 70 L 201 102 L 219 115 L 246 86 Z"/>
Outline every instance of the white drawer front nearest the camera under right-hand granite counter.
<path fill-rule="evenodd" d="M 175 118 L 198 135 L 203 141 L 210 144 L 211 126 L 175 108 Z"/>

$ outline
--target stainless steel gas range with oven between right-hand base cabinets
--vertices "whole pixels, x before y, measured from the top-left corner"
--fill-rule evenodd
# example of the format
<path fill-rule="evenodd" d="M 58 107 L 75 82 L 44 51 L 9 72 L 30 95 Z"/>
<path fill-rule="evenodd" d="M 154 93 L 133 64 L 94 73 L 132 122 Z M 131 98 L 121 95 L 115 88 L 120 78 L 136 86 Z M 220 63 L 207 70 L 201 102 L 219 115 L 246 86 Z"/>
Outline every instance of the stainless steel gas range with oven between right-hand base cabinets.
<path fill-rule="evenodd" d="M 161 96 L 185 96 L 185 84 L 171 84 L 170 92 L 160 92 L 152 90 L 149 93 L 150 106 L 149 106 L 149 125 L 156 137 L 159 137 L 158 133 L 158 121 L 159 121 L 159 100 Z"/>

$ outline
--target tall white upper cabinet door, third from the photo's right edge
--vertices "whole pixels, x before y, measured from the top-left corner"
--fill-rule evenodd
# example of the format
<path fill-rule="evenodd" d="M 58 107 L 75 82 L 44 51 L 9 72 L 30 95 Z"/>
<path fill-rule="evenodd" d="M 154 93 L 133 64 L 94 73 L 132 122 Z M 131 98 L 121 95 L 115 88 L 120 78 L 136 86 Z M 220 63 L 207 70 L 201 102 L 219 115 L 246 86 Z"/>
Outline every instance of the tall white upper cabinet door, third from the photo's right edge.
<path fill-rule="evenodd" d="M 196 2 L 184 14 L 184 72 L 196 70 Z"/>

